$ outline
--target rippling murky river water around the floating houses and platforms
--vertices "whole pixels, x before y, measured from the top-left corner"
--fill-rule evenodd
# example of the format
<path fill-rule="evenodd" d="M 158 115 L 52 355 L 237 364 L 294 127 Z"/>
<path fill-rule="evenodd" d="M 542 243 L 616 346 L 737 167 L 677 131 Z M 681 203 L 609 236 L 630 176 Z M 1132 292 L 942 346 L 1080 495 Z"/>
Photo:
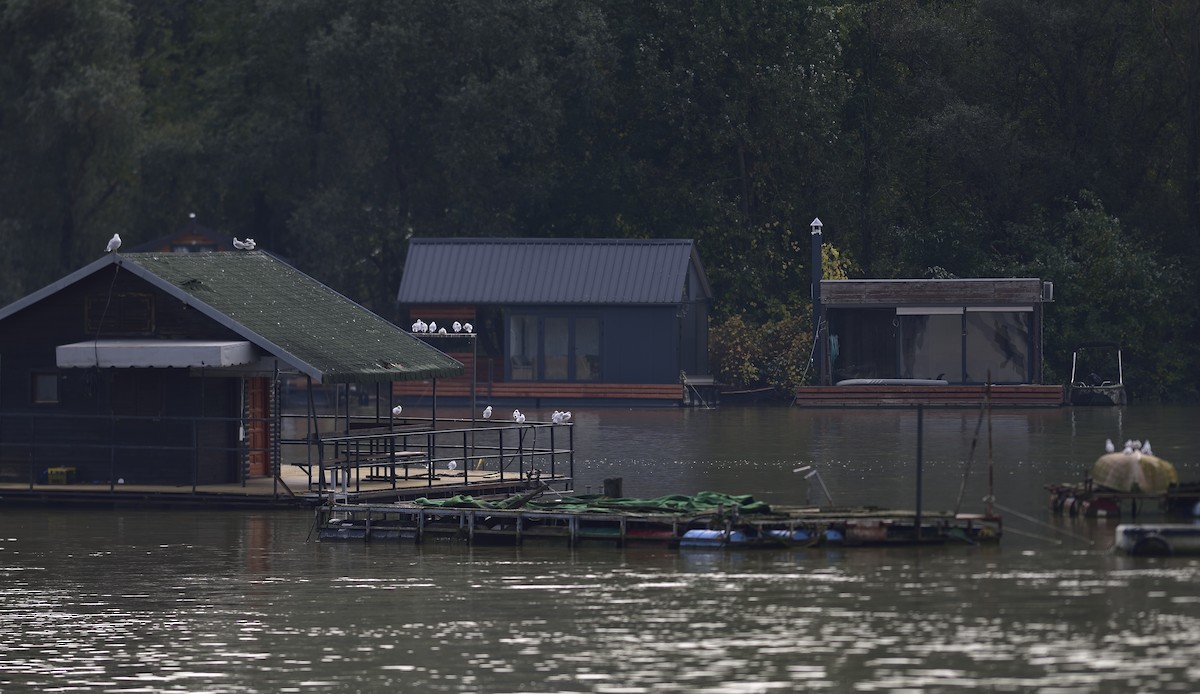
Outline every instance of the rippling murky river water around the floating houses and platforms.
<path fill-rule="evenodd" d="M 1007 532 L 982 548 L 314 543 L 311 511 L 0 501 L 0 689 L 1194 692 L 1200 560 L 1116 555 L 1112 521 L 1052 517 L 1043 486 L 1082 479 L 1105 438 L 1198 479 L 1198 415 L 925 411 L 923 505 L 980 510 L 990 477 Z M 815 465 L 839 505 L 916 503 L 914 409 L 574 421 L 578 491 L 805 503 L 822 492 L 792 469 Z"/>

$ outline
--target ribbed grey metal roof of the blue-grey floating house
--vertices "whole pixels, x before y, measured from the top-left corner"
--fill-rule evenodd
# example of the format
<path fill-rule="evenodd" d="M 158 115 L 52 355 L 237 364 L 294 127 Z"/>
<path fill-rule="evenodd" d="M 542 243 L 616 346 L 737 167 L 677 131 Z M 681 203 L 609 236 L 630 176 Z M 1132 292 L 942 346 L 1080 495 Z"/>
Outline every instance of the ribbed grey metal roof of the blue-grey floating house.
<path fill-rule="evenodd" d="M 678 304 L 710 295 L 688 239 L 412 239 L 397 300 Z"/>

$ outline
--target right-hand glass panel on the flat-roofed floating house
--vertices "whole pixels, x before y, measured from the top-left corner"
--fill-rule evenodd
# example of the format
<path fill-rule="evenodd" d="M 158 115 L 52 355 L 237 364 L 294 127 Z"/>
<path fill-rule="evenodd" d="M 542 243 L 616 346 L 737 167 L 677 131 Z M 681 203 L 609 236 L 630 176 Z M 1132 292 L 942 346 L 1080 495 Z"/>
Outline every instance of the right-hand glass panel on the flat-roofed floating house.
<path fill-rule="evenodd" d="M 967 382 L 1028 383 L 1030 316 L 1032 311 L 967 310 Z"/>

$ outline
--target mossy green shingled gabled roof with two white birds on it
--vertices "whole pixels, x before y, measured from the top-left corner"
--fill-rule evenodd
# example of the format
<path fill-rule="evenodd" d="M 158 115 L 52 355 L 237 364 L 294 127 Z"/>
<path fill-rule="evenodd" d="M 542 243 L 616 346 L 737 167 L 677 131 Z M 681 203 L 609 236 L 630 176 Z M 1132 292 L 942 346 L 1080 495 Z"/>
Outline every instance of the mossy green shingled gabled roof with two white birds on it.
<path fill-rule="evenodd" d="M 262 251 L 112 253 L 0 310 L 0 321 L 116 264 L 324 383 L 458 376 L 457 360 Z"/>

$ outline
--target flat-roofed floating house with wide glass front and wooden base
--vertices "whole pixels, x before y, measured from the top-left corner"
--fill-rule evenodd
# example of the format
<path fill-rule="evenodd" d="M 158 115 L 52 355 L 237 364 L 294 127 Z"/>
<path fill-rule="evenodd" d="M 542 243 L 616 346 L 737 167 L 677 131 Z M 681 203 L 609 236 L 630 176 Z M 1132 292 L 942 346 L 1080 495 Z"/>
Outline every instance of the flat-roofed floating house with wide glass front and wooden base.
<path fill-rule="evenodd" d="M 1058 406 L 1042 384 L 1038 279 L 823 280 L 824 351 L 798 405 Z"/>

